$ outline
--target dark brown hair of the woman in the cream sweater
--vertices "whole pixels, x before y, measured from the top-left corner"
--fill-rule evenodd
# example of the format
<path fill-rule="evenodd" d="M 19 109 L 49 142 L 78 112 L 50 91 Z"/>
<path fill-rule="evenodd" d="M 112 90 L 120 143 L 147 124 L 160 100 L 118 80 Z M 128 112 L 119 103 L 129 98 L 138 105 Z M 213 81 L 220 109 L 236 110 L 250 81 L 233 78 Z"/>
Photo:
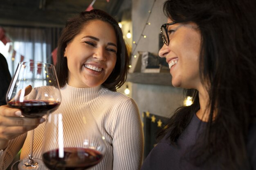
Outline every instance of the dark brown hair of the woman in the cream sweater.
<path fill-rule="evenodd" d="M 64 57 L 65 48 L 67 44 L 81 32 L 84 26 L 94 20 L 101 20 L 111 24 L 117 36 L 117 62 L 114 70 L 102 86 L 111 91 L 116 91 L 126 81 L 129 57 L 123 39 L 123 32 L 118 22 L 108 13 L 99 9 L 93 9 L 91 11 L 81 12 L 79 15 L 68 20 L 58 39 L 56 72 L 61 87 L 66 84 L 68 77 L 67 58 Z"/>

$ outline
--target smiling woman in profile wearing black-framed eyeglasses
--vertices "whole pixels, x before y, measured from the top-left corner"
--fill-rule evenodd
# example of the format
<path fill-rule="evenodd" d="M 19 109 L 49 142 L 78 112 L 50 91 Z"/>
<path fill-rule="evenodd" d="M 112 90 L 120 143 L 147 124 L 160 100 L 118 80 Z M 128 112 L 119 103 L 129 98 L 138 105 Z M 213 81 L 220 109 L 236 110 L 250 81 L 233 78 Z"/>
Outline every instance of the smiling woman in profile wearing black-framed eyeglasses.
<path fill-rule="evenodd" d="M 256 7 L 244 0 L 167 0 L 159 51 L 178 108 L 141 170 L 256 170 Z"/>

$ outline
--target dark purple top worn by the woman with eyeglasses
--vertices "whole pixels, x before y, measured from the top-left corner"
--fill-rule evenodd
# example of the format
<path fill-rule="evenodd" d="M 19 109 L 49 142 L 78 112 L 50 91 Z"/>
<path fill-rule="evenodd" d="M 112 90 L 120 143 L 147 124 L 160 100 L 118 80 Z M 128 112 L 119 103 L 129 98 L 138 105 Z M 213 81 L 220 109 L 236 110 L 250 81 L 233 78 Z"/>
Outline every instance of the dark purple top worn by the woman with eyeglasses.
<path fill-rule="evenodd" d="M 201 130 L 206 126 L 195 114 L 182 135 L 177 140 L 177 146 L 171 145 L 168 134 L 151 150 L 146 157 L 141 170 L 206 170 L 207 166 L 196 167 L 184 159 L 184 153 L 195 144 Z M 248 155 L 252 170 L 256 170 L 256 124 L 250 128 L 248 140 Z M 182 159 L 181 159 L 182 158 Z M 215 166 L 215 167 L 213 167 Z M 211 169 L 219 170 L 217 163 Z"/>

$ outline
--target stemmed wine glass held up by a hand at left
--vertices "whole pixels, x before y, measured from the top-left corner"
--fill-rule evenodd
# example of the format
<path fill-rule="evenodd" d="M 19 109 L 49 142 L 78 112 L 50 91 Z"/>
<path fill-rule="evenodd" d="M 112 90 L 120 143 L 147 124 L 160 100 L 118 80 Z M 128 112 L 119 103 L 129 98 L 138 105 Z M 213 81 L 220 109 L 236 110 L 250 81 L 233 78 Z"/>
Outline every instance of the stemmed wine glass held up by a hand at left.
<path fill-rule="evenodd" d="M 40 62 L 20 62 L 6 96 L 9 107 L 18 108 L 28 118 L 40 118 L 61 103 L 61 92 L 54 65 Z M 40 159 L 33 158 L 34 130 L 31 130 L 30 155 L 16 161 L 12 170 L 38 169 Z"/>

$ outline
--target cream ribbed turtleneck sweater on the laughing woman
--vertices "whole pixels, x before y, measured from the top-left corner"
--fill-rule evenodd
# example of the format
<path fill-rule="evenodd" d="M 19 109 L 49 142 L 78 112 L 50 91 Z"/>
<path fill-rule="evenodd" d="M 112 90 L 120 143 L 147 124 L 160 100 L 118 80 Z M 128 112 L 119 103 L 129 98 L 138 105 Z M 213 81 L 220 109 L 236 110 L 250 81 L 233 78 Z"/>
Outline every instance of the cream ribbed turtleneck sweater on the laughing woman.
<path fill-rule="evenodd" d="M 72 113 L 70 122 L 76 122 L 79 113 L 88 105 L 107 142 L 107 152 L 101 163 L 93 170 L 139 170 L 142 163 L 144 137 L 139 111 L 134 100 L 119 92 L 112 92 L 101 86 L 75 88 L 69 85 L 61 88 L 62 102 L 55 112 Z M 33 157 L 41 159 L 44 123 L 35 129 Z M 20 136 L 9 143 L 0 165 L 17 153 L 24 140 Z M 76 138 L 70 139 L 76 142 Z M 30 133 L 22 147 L 20 158 L 29 155 Z M 4 157 L 4 158 L 3 158 Z M 4 160 L 4 162 L 3 162 Z M 5 164 L 5 165 L 4 165 Z M 1 166 L 2 167 L 2 166 Z"/>

